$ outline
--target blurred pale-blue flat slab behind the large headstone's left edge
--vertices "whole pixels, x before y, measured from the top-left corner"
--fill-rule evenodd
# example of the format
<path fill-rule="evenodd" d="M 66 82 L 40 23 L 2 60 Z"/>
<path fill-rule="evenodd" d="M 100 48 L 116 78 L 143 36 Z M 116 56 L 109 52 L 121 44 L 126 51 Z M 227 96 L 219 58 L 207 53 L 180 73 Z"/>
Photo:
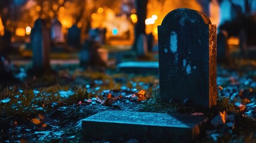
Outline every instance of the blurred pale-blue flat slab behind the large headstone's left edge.
<path fill-rule="evenodd" d="M 128 61 L 118 64 L 118 71 L 125 73 L 154 73 L 159 74 L 158 61 Z"/>

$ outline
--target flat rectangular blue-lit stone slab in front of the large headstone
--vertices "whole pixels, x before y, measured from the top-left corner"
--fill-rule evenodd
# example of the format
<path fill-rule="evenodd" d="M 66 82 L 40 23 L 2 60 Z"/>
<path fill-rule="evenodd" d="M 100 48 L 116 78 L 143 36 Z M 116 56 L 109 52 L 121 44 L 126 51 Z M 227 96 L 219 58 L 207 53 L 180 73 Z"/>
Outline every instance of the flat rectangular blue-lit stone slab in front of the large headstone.
<path fill-rule="evenodd" d="M 207 117 L 184 114 L 103 111 L 82 121 L 82 138 L 192 142 L 205 133 L 208 121 Z"/>

